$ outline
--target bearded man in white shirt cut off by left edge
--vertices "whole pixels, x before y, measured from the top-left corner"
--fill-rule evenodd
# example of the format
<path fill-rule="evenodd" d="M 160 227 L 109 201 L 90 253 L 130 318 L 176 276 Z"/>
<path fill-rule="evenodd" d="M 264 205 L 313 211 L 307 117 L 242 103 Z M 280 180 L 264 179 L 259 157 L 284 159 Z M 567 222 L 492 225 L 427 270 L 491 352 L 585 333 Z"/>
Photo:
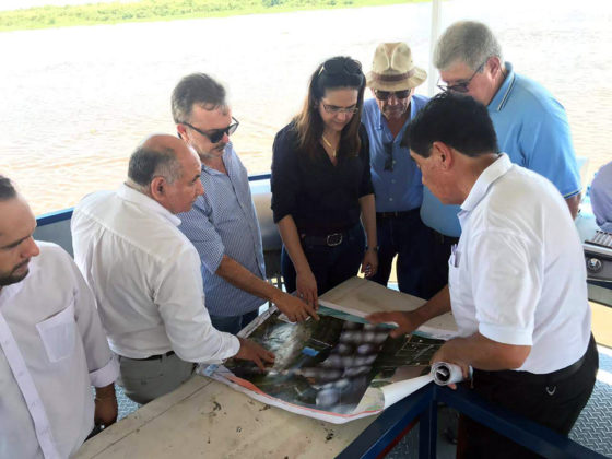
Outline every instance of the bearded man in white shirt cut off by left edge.
<path fill-rule="evenodd" d="M 32 238 L 36 220 L 3 176 L 0 215 L 0 457 L 68 458 L 94 420 L 117 420 L 117 361 L 79 269 Z"/>

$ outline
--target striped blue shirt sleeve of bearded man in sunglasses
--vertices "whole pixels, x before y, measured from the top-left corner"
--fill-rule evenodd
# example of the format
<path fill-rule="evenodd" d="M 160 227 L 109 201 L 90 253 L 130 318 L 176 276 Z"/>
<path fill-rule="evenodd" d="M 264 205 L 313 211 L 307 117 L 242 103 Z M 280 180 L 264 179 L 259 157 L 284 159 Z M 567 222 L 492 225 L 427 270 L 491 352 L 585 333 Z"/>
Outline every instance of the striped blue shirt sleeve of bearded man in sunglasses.
<path fill-rule="evenodd" d="M 202 266 L 214 274 L 225 254 L 225 246 L 209 219 L 205 199 L 205 197 L 198 198 L 189 212 L 179 215 L 178 228 L 198 250 Z"/>

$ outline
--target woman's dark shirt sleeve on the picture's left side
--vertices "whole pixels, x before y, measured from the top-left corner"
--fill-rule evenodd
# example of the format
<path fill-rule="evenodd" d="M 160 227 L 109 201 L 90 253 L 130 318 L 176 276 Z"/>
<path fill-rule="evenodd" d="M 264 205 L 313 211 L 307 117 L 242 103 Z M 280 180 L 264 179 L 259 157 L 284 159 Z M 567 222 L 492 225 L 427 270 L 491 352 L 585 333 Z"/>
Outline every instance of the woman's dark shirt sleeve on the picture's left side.
<path fill-rule="evenodd" d="M 296 148 L 295 131 L 284 128 L 276 133 L 272 145 L 272 177 L 270 179 L 274 223 L 279 223 L 295 211 L 299 188 Z"/>

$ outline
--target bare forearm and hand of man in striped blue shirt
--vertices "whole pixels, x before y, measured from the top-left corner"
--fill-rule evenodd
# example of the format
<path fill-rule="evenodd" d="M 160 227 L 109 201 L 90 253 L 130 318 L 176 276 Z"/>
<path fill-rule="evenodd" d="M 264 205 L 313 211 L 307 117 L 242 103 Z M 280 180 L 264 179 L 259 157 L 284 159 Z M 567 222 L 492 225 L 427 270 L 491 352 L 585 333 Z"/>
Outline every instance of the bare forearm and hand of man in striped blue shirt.
<path fill-rule="evenodd" d="M 226 255 L 223 256 L 215 274 L 237 289 L 274 303 L 291 321 L 306 320 L 308 316 L 319 320 L 310 305 L 261 280 Z"/>

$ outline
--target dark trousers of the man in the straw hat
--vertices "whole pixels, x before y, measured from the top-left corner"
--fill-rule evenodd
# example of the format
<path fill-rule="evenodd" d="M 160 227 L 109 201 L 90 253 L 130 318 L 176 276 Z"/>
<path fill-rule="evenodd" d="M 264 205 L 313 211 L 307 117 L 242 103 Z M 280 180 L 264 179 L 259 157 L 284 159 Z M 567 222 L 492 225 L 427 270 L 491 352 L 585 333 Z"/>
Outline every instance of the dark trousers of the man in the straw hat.
<path fill-rule="evenodd" d="M 376 215 L 378 272 L 370 280 L 387 286 L 397 255 L 396 274 L 400 292 L 424 298 L 428 294 L 424 284 L 428 254 L 423 242 L 428 237 L 428 228 L 421 221 L 419 211 L 413 209 L 398 216 Z"/>

